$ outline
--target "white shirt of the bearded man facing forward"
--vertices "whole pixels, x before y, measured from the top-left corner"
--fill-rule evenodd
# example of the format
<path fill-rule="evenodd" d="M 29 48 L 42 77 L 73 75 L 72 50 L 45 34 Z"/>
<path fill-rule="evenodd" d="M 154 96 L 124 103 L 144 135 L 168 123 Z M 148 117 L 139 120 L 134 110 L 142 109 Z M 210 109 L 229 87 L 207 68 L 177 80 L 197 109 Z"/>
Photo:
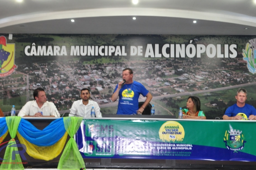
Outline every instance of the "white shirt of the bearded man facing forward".
<path fill-rule="evenodd" d="M 69 109 L 69 116 L 91 117 L 92 106 L 95 110 L 95 117 L 102 117 L 100 107 L 96 101 L 89 100 L 88 104 L 84 105 L 82 99 L 74 101 L 71 109 Z"/>

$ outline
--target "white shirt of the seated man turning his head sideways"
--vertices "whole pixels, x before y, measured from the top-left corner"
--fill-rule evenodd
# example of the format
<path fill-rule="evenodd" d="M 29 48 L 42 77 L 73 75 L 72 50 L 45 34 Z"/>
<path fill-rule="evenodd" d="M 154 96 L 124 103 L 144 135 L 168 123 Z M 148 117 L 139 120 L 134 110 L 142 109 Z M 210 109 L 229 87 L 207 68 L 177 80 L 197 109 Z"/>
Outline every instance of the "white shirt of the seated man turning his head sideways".
<path fill-rule="evenodd" d="M 60 117 L 54 103 L 46 101 L 41 108 L 38 107 L 36 100 L 28 101 L 19 111 L 18 116 L 34 116 L 38 112 L 43 112 L 43 116 Z"/>

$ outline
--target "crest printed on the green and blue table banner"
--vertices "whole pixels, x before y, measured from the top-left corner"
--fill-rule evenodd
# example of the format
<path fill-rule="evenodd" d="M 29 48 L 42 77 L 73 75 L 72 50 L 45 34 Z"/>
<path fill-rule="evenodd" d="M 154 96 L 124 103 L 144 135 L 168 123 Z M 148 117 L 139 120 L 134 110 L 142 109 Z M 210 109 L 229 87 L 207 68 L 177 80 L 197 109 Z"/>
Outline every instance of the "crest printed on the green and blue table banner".
<path fill-rule="evenodd" d="M 231 129 L 226 130 L 224 142 L 226 143 L 227 149 L 237 152 L 244 148 L 246 141 L 242 130 Z"/>

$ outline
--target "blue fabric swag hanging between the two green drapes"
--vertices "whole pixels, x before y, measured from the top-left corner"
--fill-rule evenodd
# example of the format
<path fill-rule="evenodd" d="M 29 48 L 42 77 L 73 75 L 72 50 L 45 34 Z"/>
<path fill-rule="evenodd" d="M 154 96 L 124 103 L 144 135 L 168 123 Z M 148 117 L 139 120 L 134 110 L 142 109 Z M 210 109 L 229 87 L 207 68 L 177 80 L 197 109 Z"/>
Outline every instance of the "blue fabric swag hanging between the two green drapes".
<path fill-rule="evenodd" d="M 43 130 L 38 130 L 30 122 L 21 119 L 18 132 L 24 139 L 36 146 L 51 146 L 62 138 L 66 130 L 63 118 L 52 121 Z"/>

